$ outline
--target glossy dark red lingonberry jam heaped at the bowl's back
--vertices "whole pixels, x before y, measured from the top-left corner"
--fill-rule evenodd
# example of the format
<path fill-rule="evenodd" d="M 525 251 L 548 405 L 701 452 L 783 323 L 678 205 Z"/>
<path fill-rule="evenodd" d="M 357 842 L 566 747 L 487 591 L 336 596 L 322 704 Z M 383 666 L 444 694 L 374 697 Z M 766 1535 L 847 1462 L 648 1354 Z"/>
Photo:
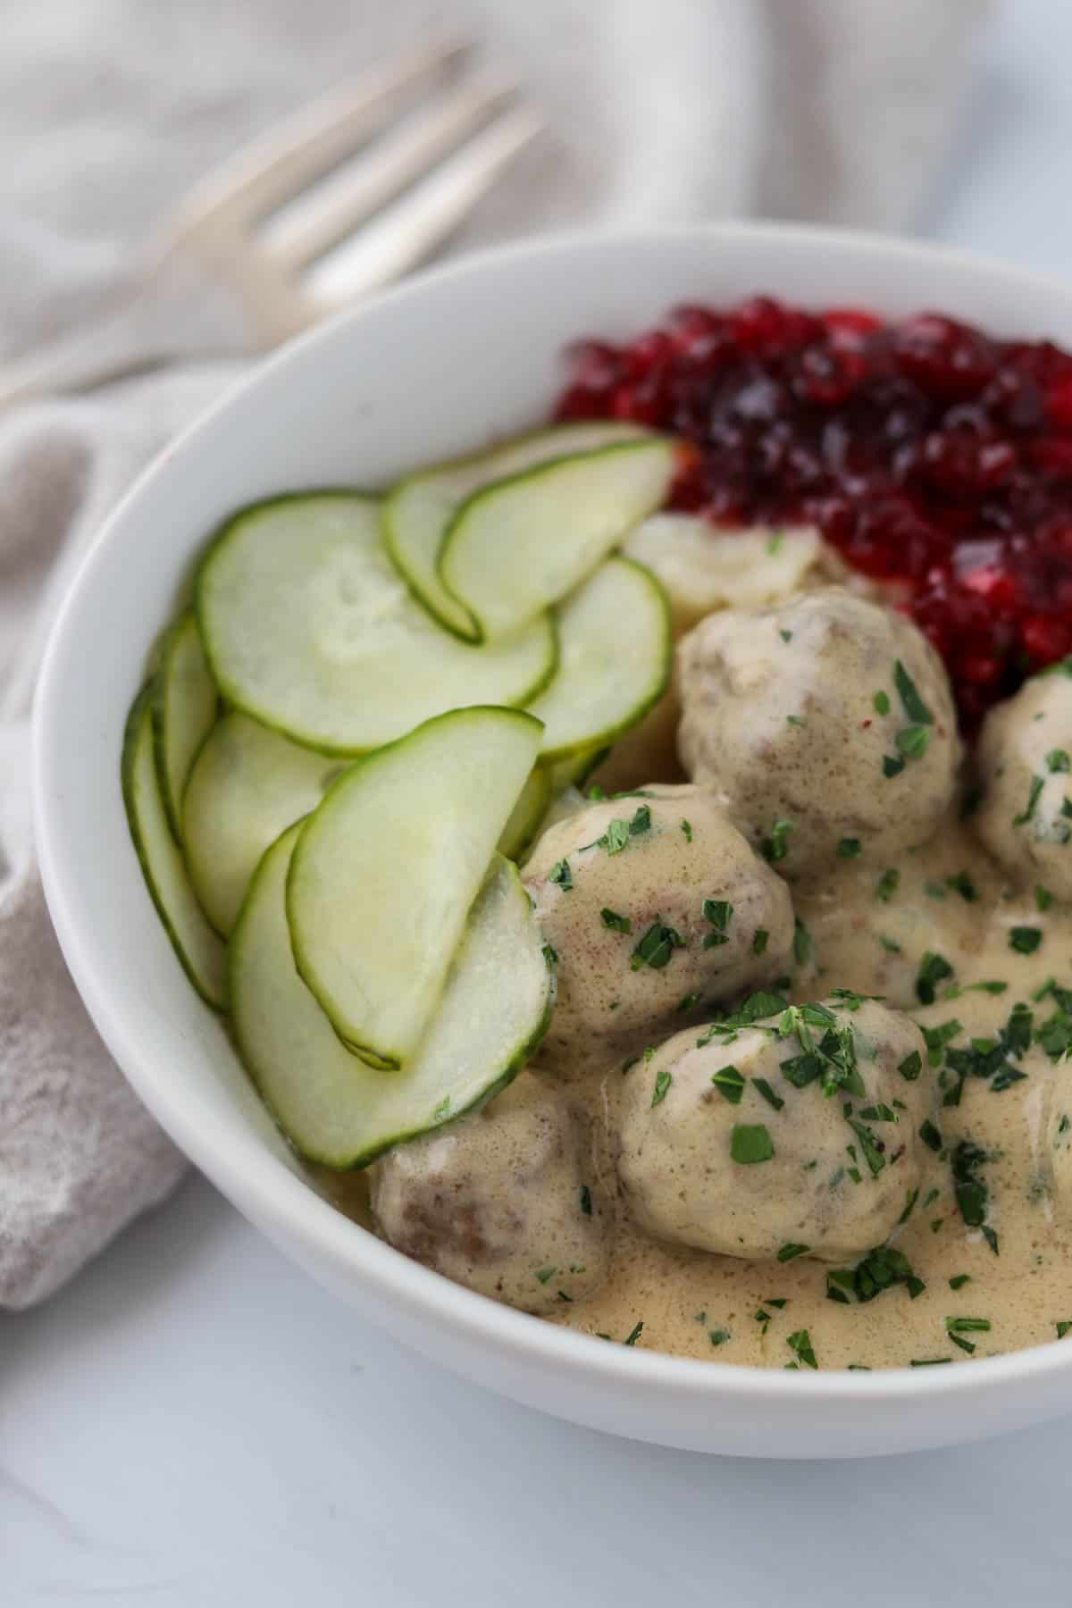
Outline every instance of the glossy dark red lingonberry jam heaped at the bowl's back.
<path fill-rule="evenodd" d="M 900 584 L 968 727 L 1072 651 L 1072 354 L 1053 343 L 757 296 L 678 307 L 624 346 L 579 343 L 569 373 L 559 418 L 694 444 L 675 508 L 815 524 Z"/>

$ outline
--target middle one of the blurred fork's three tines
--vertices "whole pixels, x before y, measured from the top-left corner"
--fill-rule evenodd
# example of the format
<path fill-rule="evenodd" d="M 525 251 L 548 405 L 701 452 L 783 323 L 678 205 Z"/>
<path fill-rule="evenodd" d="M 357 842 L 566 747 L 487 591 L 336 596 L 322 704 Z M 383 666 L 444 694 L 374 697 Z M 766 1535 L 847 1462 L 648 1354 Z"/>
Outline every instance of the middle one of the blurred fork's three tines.
<path fill-rule="evenodd" d="M 260 232 L 262 243 L 286 267 L 307 265 L 429 174 L 514 95 L 516 85 L 501 80 L 474 79 L 458 85 L 413 116 L 383 146 L 329 174 L 313 191 L 268 219 Z"/>

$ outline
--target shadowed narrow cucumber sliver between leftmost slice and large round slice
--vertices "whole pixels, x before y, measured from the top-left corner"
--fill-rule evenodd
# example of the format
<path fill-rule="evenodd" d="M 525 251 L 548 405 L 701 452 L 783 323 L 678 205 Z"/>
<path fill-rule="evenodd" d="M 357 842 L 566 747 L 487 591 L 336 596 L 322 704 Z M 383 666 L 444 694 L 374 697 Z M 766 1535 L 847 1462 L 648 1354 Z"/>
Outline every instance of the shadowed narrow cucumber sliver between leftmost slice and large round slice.
<path fill-rule="evenodd" d="M 182 801 L 194 756 L 215 722 L 219 693 L 201 648 L 198 621 L 182 614 L 161 646 L 153 736 L 167 820 L 182 843 Z"/>

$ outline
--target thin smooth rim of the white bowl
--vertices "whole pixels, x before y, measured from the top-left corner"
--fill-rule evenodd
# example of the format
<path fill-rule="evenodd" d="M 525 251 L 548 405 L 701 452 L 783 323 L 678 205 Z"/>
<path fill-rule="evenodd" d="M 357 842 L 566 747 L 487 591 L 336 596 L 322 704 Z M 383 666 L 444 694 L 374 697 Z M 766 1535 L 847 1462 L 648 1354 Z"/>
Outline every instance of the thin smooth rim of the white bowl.
<path fill-rule="evenodd" d="M 487 1296 L 452 1283 L 378 1240 L 370 1230 L 331 1206 L 283 1161 L 252 1135 L 243 1135 L 241 1151 L 233 1138 L 217 1135 L 209 1124 L 198 1122 L 196 1103 L 154 1069 L 124 1023 L 121 987 L 109 979 L 108 968 L 95 958 L 92 934 L 80 929 L 72 912 L 61 870 L 63 807 L 53 777 L 59 765 L 56 741 L 58 709 L 63 703 L 61 651 L 71 622 L 77 619 L 82 595 L 108 548 L 137 516 L 146 487 L 153 484 L 166 460 L 194 452 L 201 439 L 227 428 L 228 413 L 251 391 L 284 370 L 297 354 L 331 344 L 339 331 L 363 318 L 374 317 L 386 304 L 419 299 L 429 285 L 466 280 L 509 270 L 514 262 L 569 256 L 587 249 L 622 251 L 651 248 L 657 243 L 701 241 L 717 246 L 723 240 L 744 240 L 757 248 L 792 241 L 818 251 L 855 254 L 886 260 L 919 260 L 947 265 L 979 280 L 1001 280 L 1011 297 L 1032 293 L 1066 297 L 1072 304 L 1072 285 L 1056 273 L 1037 272 L 1017 264 L 929 241 L 884 236 L 868 230 L 813 227 L 765 220 L 733 220 L 709 224 L 628 225 L 614 228 L 577 228 L 495 244 L 469 252 L 456 260 L 426 269 L 376 296 L 342 309 L 323 323 L 288 341 L 267 360 L 252 367 L 209 408 L 198 415 L 133 481 L 101 527 L 90 539 L 77 563 L 48 630 L 42 654 L 32 709 L 32 809 L 40 875 L 48 912 L 59 946 L 82 995 L 82 1000 L 117 1061 L 124 1077 L 148 1106 L 161 1127 L 243 1212 L 270 1237 L 299 1240 L 310 1257 L 328 1257 L 350 1282 L 368 1286 L 384 1304 L 400 1307 L 423 1325 L 452 1331 L 473 1346 L 497 1346 L 519 1365 L 550 1367 L 579 1386 L 603 1384 L 616 1389 L 689 1396 L 715 1402 L 733 1397 L 743 1405 L 784 1401 L 833 1404 L 897 1404 L 945 1397 L 988 1397 L 1013 1381 L 1029 1383 L 1072 1372 L 1072 1346 L 1061 1349 L 1058 1339 L 1043 1341 L 996 1357 L 972 1359 L 972 1367 L 945 1368 L 847 1368 L 789 1370 L 762 1368 L 696 1357 L 680 1357 L 638 1346 L 608 1344 L 595 1335 L 561 1328 L 545 1319 L 518 1312 Z M 1072 306 L 1070 306 L 1072 317 Z M 580 331 L 583 333 L 583 331 Z"/>

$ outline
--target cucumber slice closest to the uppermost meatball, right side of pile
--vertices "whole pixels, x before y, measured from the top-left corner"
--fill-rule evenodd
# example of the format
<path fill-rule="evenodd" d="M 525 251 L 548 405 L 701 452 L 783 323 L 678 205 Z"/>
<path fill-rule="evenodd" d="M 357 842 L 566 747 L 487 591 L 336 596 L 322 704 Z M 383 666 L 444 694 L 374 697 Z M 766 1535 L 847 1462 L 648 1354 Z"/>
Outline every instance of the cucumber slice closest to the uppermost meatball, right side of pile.
<path fill-rule="evenodd" d="M 608 558 L 558 606 L 558 671 L 529 704 L 543 720 L 542 756 L 606 748 L 662 698 L 673 637 L 665 593 L 649 569 Z"/>

